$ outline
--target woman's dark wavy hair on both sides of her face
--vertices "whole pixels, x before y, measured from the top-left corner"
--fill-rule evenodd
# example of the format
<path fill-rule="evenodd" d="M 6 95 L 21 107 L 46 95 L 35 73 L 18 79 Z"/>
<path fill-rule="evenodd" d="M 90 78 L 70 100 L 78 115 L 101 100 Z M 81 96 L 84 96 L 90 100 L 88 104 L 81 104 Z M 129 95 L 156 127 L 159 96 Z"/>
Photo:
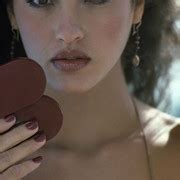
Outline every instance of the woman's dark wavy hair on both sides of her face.
<path fill-rule="evenodd" d="M 138 6 L 140 1 L 132 0 L 135 6 Z M 9 0 L 0 0 L 0 64 L 10 61 L 12 32 L 6 11 L 7 2 Z M 177 42 L 176 32 L 173 29 L 175 21 L 173 2 L 173 0 L 146 0 L 140 28 L 141 48 L 138 51 L 141 63 L 138 68 L 132 65 L 136 46 L 131 34 L 121 57 L 126 81 L 133 87 L 132 93 L 152 106 L 157 106 L 164 94 L 163 87 L 159 89 L 159 98 L 155 98 L 154 91 L 159 77 L 165 76 L 171 65 L 171 46 L 167 45 Z M 26 56 L 21 39 L 15 48 L 15 57 L 20 56 Z"/>

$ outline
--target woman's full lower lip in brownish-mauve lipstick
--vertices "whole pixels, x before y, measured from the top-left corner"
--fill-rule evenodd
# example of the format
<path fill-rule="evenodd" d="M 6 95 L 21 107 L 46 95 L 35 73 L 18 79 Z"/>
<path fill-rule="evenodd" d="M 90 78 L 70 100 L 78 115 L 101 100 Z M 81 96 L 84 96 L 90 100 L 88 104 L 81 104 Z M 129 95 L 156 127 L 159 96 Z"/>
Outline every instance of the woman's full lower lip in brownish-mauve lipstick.
<path fill-rule="evenodd" d="M 57 69 L 66 72 L 72 72 L 84 68 L 89 63 L 89 61 L 90 59 L 75 59 L 75 60 L 59 59 L 59 60 L 54 60 L 53 64 Z"/>

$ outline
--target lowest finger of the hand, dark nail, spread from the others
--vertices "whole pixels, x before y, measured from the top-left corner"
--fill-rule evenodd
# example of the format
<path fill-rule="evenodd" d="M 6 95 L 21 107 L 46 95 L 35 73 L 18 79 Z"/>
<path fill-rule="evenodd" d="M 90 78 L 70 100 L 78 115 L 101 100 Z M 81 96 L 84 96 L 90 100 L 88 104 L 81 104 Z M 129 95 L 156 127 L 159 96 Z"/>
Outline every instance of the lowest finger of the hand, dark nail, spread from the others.
<path fill-rule="evenodd" d="M 41 162 L 42 156 L 38 156 L 32 160 L 27 160 L 20 164 L 13 165 L 0 175 L 0 180 L 21 179 L 37 169 Z"/>

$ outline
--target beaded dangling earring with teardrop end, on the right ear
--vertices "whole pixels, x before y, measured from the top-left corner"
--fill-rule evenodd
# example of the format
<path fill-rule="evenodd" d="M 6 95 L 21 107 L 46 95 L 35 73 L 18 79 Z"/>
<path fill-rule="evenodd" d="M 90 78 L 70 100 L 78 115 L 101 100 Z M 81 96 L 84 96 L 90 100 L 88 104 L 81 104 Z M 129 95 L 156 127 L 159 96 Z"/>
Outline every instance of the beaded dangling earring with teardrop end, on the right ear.
<path fill-rule="evenodd" d="M 141 26 L 142 22 L 140 21 L 138 24 L 133 24 L 133 33 L 132 36 L 136 36 L 135 37 L 135 44 L 136 44 L 136 51 L 135 51 L 135 56 L 133 58 L 133 65 L 135 67 L 138 67 L 140 64 L 140 58 L 138 56 L 138 50 L 140 49 L 140 35 L 139 35 L 139 28 Z"/>

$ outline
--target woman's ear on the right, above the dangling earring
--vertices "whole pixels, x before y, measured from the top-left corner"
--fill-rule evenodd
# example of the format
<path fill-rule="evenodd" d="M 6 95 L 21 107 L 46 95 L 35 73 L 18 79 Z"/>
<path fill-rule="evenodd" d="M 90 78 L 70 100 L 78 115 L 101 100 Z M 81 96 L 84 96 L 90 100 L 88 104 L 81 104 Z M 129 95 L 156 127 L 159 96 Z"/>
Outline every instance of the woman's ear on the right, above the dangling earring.
<path fill-rule="evenodd" d="M 133 24 L 137 24 L 141 21 L 144 14 L 145 0 L 137 0 L 134 8 Z"/>

